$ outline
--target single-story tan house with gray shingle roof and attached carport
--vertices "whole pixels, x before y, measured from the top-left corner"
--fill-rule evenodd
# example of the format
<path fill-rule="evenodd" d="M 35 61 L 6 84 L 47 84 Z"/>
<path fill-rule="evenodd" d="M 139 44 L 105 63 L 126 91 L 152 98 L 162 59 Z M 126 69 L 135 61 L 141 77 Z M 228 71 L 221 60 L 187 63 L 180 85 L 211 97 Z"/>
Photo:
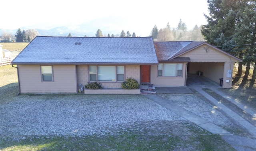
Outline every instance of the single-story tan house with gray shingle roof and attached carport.
<path fill-rule="evenodd" d="M 152 37 L 37 36 L 12 61 L 20 93 L 76 93 L 96 81 L 120 89 L 127 77 L 155 86 L 186 86 L 187 74 L 232 84 L 234 62 L 206 42 L 154 42 Z"/>

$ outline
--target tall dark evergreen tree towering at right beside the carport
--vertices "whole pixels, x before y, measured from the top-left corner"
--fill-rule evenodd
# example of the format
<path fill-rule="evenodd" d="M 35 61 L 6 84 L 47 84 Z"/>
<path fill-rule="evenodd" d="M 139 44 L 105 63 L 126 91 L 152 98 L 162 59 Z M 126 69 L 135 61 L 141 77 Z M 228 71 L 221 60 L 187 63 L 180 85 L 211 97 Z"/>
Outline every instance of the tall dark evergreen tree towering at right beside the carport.
<path fill-rule="evenodd" d="M 255 62 L 256 43 L 256 2 L 255 0 L 207 0 L 209 16 L 204 15 L 208 24 L 202 26 L 204 38 L 212 45 L 220 46 L 238 58 L 243 58 L 246 73 L 251 62 Z M 248 69 L 248 71 L 247 71 Z M 238 75 L 242 74 L 242 64 Z M 245 74 L 244 79 L 247 75 Z"/>

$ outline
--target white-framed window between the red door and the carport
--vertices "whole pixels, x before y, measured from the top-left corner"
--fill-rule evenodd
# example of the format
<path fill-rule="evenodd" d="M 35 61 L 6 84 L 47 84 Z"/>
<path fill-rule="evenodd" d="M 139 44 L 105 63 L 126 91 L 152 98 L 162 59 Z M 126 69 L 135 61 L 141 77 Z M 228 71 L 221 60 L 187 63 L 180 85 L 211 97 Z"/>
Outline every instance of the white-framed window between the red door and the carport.
<path fill-rule="evenodd" d="M 182 64 L 159 64 L 157 68 L 158 77 L 182 76 Z"/>

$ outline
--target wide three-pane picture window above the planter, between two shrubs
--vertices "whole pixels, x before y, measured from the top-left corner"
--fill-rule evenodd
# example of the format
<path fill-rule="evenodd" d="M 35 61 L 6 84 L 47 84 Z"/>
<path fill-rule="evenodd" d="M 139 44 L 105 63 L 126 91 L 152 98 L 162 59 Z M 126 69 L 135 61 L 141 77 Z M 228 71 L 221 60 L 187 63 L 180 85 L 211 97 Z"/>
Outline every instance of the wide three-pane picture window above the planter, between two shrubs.
<path fill-rule="evenodd" d="M 124 81 L 124 66 L 89 66 L 89 81 Z"/>

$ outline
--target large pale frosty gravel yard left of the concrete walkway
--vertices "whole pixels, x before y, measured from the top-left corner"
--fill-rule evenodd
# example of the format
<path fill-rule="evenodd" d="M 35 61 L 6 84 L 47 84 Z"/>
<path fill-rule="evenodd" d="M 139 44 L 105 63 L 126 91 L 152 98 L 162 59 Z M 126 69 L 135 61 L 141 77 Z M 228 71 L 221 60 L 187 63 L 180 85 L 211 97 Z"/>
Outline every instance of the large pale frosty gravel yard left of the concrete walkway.
<path fill-rule="evenodd" d="M 105 135 L 186 121 L 141 95 L 22 94 L 0 115 L 1 136 Z"/>

